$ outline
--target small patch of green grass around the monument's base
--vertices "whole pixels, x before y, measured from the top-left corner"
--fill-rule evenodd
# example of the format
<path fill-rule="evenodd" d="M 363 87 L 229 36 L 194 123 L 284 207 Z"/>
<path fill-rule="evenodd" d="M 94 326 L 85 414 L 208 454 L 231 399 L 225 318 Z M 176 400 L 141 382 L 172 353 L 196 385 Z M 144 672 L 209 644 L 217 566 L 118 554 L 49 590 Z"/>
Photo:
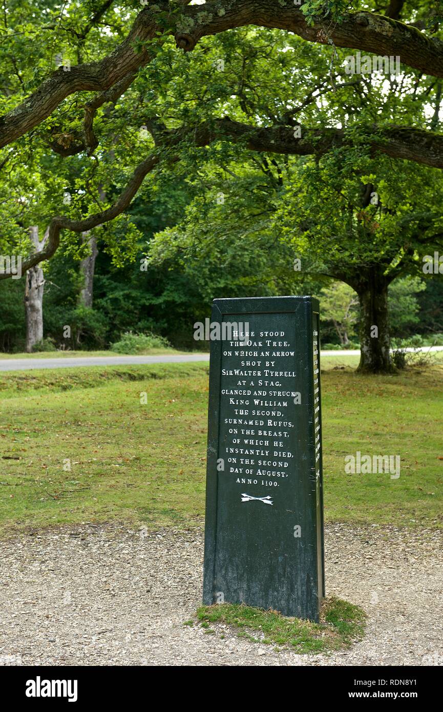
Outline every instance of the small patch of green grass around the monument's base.
<path fill-rule="evenodd" d="M 291 646 L 297 653 L 325 653 L 348 648 L 365 632 L 362 608 L 330 596 L 323 602 L 320 623 L 291 618 L 244 604 L 222 603 L 197 609 L 202 627 L 222 623 L 240 629 L 253 642 Z"/>

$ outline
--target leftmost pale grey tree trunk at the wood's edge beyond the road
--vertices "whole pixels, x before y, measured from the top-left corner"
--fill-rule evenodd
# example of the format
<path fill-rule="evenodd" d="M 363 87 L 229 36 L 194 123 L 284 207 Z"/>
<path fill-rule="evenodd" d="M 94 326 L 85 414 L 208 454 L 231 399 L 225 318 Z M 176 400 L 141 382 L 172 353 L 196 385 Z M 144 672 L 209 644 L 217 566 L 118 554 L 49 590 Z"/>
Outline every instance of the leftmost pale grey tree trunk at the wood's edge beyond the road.
<path fill-rule="evenodd" d="M 38 227 L 29 228 L 31 242 L 36 252 L 40 252 L 47 239 L 38 240 Z M 25 312 L 26 312 L 26 352 L 31 353 L 33 346 L 43 339 L 43 289 L 45 279 L 43 269 L 38 264 L 26 272 Z"/>

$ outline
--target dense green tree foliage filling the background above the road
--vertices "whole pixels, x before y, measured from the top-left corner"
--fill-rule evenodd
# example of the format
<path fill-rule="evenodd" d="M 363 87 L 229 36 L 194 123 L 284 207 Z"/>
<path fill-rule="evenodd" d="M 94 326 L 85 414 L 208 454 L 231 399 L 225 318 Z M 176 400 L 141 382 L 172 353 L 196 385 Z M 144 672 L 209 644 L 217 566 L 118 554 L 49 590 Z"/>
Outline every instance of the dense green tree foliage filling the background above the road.
<path fill-rule="evenodd" d="M 43 263 L 48 343 L 132 330 L 194 347 L 214 297 L 328 303 L 331 284 L 361 297 L 374 275 L 392 282 L 393 335 L 442 331 L 441 276 L 422 273 L 443 244 L 441 3 L 282 0 L 258 19 L 242 0 L 195 5 L 4 3 L 0 251 L 30 256 L 31 225 L 60 239 Z M 389 42 L 400 73 L 347 73 L 355 48 Z M 92 308 L 79 299 L 90 229 Z M 23 293 L 0 282 L 4 350 L 23 348 Z"/>

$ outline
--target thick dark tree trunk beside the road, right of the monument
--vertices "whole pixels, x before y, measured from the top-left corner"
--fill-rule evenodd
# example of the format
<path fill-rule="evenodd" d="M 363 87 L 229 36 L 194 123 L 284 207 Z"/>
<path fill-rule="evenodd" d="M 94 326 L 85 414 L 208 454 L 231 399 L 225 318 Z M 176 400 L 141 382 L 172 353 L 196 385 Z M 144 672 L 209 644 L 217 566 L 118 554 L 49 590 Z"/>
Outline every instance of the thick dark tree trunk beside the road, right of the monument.
<path fill-rule="evenodd" d="M 390 335 L 387 309 L 389 281 L 372 272 L 368 280 L 357 286 L 360 301 L 360 364 L 364 373 L 392 373 Z"/>

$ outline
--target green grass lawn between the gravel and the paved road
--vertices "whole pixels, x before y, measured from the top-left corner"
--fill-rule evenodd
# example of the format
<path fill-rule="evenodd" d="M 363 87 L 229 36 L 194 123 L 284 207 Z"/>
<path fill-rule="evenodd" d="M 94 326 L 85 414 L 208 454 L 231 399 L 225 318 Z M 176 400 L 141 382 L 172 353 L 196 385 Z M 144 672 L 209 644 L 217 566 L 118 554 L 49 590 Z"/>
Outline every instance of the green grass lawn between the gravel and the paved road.
<path fill-rule="evenodd" d="M 441 527 L 442 362 L 389 377 L 336 365 L 323 359 L 325 518 Z M 201 522 L 208 370 L 185 363 L 0 373 L 0 531 Z M 345 474 L 345 455 L 357 450 L 400 455 L 400 478 Z"/>

